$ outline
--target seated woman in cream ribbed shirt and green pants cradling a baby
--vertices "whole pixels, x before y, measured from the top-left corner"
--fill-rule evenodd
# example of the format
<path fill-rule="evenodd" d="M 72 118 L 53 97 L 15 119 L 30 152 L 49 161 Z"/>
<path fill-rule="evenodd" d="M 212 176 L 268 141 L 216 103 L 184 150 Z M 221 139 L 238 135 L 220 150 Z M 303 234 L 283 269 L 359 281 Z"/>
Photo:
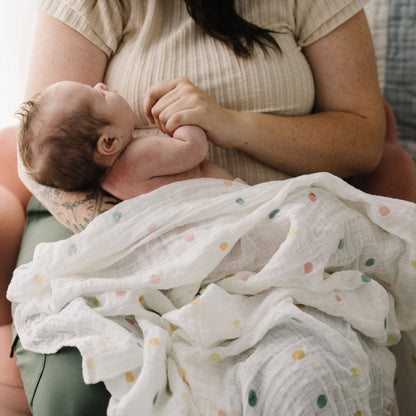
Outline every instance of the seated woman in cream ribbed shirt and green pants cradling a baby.
<path fill-rule="evenodd" d="M 72 3 L 41 2 L 28 98 L 60 80 L 105 81 L 134 108 L 137 128 L 199 125 L 211 158 L 249 183 L 279 179 L 278 171 L 347 178 L 378 165 L 385 118 L 365 1 L 236 1 L 256 26 L 232 1 Z M 24 182 L 73 232 L 117 203 Z M 82 383 L 76 350 L 44 357 L 17 343 L 17 355 L 34 415 L 105 414 L 108 394 Z"/>

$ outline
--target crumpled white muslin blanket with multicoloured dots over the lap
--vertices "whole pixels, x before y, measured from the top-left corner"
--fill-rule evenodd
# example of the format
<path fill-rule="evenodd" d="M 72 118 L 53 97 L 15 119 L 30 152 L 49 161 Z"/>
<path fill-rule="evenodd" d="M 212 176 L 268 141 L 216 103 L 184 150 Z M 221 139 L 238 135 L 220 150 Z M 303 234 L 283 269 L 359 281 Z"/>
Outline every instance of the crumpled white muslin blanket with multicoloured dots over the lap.
<path fill-rule="evenodd" d="M 16 269 L 22 345 L 75 346 L 109 415 L 397 414 L 416 205 L 329 174 L 196 179 L 125 201 Z"/>

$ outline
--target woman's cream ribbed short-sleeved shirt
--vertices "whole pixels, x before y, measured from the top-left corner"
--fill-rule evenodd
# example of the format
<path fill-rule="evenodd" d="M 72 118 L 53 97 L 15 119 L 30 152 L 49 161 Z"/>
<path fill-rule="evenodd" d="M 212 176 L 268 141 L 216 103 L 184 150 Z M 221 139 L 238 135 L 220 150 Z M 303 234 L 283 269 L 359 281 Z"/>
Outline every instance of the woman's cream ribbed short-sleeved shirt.
<path fill-rule="evenodd" d="M 209 1 L 209 0 L 208 0 Z M 62 20 L 110 58 L 105 82 L 136 112 L 137 130 L 158 134 L 142 108 L 152 84 L 184 76 L 227 108 L 285 116 L 312 111 L 314 83 L 302 47 L 363 8 L 366 0 L 235 0 L 246 20 L 278 32 L 281 53 L 239 59 L 203 34 L 183 0 L 41 0 L 39 9 Z M 242 151 L 210 146 L 209 159 L 249 184 L 284 175 Z"/>

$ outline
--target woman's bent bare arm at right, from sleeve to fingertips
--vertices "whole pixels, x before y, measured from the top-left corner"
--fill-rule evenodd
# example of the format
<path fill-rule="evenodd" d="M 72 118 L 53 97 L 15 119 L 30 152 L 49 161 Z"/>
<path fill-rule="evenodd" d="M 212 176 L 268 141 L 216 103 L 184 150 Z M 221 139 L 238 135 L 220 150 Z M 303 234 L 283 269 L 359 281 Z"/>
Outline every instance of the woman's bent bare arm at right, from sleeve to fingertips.
<path fill-rule="evenodd" d="M 221 147 L 238 148 L 292 175 L 366 173 L 380 161 L 385 129 L 371 35 L 360 12 L 305 48 L 315 86 L 315 113 L 281 117 L 221 107 L 184 79 L 151 87 L 145 111 L 167 133 L 202 127 Z"/>

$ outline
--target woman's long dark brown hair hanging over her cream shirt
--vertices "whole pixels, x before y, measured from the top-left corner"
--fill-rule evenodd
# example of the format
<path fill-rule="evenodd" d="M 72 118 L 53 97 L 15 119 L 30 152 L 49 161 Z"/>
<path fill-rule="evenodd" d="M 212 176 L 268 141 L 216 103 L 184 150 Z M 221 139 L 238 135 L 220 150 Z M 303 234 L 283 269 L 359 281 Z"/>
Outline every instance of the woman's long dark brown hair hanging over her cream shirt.
<path fill-rule="evenodd" d="M 184 0 L 189 15 L 202 30 L 231 47 L 237 56 L 250 58 L 255 45 L 267 54 L 280 50 L 272 30 L 243 19 L 235 10 L 234 0 Z M 251 0 L 255 1 L 255 0 Z"/>

